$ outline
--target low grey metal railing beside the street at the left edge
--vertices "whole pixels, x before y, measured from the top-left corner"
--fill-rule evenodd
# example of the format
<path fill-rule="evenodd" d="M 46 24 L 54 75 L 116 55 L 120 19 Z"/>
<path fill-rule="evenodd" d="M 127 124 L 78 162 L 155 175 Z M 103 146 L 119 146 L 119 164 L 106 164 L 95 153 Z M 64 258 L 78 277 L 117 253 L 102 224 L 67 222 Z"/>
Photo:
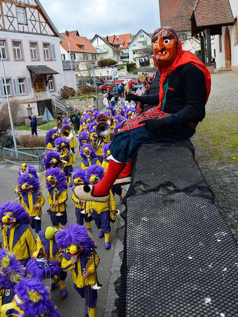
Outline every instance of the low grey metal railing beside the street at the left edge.
<path fill-rule="evenodd" d="M 5 162 L 20 166 L 22 165 L 22 163 L 26 163 L 34 166 L 36 168 L 36 171 L 38 172 L 42 172 L 44 170 L 42 164 L 43 155 L 44 153 L 40 155 L 33 155 L 3 147 L 3 160 Z"/>

